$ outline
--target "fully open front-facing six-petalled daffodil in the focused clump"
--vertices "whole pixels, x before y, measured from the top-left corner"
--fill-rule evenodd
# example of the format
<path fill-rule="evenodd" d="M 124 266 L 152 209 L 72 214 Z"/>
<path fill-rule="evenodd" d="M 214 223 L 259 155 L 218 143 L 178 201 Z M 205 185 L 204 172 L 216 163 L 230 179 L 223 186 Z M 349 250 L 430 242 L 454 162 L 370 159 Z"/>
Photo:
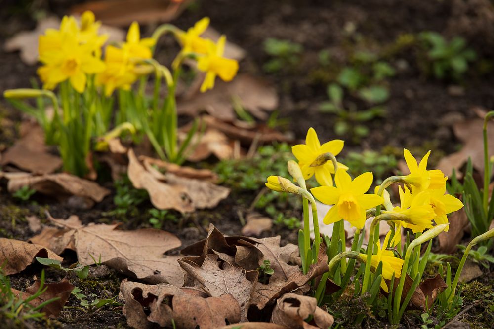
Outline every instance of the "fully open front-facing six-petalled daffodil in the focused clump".
<path fill-rule="evenodd" d="M 372 185 L 372 173 L 364 173 L 352 181 L 345 170 L 338 168 L 334 180 L 336 187 L 320 186 L 311 189 L 319 201 L 334 205 L 324 217 L 324 223 L 330 224 L 344 219 L 362 229 L 366 221 L 366 210 L 384 202 L 383 198 L 376 194 L 365 194 Z"/>

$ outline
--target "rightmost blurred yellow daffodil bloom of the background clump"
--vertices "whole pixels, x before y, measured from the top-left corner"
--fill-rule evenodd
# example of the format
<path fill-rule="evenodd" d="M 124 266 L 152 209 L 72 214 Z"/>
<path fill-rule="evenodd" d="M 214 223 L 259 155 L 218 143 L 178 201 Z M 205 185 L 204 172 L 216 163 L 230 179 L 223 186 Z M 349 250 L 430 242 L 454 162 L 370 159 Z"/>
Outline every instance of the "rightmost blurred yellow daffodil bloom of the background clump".
<path fill-rule="evenodd" d="M 206 77 L 201 85 L 201 92 L 214 87 L 216 75 L 223 81 L 231 81 L 239 70 L 239 63 L 236 60 L 223 57 L 225 43 L 225 36 L 221 36 L 216 44 L 209 43 L 207 54 L 198 59 L 197 68 L 206 72 Z"/>

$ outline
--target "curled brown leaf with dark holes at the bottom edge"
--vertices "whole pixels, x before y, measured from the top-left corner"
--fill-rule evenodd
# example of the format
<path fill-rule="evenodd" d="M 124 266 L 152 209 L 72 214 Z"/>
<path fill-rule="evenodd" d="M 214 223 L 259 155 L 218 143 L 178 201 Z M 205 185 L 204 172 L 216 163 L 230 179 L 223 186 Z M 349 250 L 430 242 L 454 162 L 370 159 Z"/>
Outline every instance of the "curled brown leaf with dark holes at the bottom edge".
<path fill-rule="evenodd" d="M 146 285 L 129 282 L 120 285 L 120 298 L 125 300 L 123 313 L 127 324 L 145 329 L 151 323 L 178 329 L 215 329 L 240 321 L 240 307 L 230 294 L 207 297 L 190 288 L 178 288 L 169 284 Z M 149 315 L 143 308 L 149 307 Z M 173 322 L 172 322 L 173 321 Z"/>

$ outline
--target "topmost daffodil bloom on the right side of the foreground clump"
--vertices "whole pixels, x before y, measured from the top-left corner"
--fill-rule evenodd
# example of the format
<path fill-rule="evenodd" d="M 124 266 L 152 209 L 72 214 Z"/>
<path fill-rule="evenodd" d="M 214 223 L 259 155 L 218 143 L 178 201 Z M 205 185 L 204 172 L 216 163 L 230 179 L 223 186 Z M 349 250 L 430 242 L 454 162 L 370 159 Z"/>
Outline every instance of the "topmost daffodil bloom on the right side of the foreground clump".
<path fill-rule="evenodd" d="M 417 164 L 417 160 L 412 156 L 412 153 L 410 153 L 408 149 L 404 149 L 403 154 L 408 169 L 410 170 L 410 174 L 403 178 L 416 187 L 417 191 L 422 191 L 427 188 L 440 189 L 446 185 L 446 180 L 448 178 L 444 176 L 441 170 L 427 170 L 427 160 L 431 151 L 428 151 L 427 154 L 424 155 L 419 164 Z"/>

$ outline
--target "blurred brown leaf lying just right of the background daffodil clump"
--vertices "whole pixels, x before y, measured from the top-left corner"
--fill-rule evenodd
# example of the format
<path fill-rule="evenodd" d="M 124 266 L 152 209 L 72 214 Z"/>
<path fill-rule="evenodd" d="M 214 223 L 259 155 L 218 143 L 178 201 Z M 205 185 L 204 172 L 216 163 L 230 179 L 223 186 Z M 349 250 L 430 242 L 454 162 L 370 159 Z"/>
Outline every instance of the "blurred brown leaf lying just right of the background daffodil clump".
<path fill-rule="evenodd" d="M 237 118 L 233 108 L 235 101 L 261 120 L 268 118 L 263 110 L 272 111 L 278 107 L 278 95 L 271 84 L 258 77 L 241 74 L 231 82 L 218 81 L 214 89 L 180 100 L 177 110 L 180 114 L 194 117 L 205 110 L 218 119 L 233 121 Z"/>

